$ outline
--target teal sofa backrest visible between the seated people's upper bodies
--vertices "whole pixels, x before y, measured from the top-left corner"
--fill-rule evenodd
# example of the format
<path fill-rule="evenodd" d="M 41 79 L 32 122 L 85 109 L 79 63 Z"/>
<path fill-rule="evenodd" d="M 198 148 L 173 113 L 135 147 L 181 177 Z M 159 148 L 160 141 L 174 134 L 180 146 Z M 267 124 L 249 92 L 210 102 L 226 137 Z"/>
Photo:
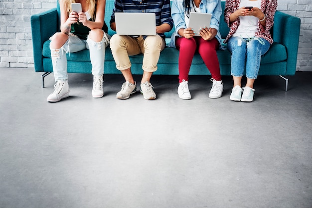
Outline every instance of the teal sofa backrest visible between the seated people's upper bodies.
<path fill-rule="evenodd" d="M 172 1 L 170 1 L 172 3 Z M 227 24 L 224 21 L 224 7 L 225 7 L 225 1 L 221 1 L 221 6 L 222 6 L 222 15 L 220 16 L 220 25 L 219 25 L 219 31 L 221 33 L 221 37 L 225 38 L 227 34 L 229 33 L 230 29 L 227 26 Z M 113 12 L 114 8 L 114 0 L 106 0 L 106 7 L 105 7 L 105 22 L 108 26 L 108 34 L 113 35 L 116 32 L 113 31 L 110 27 L 110 20 L 111 20 L 111 15 Z M 58 14 L 58 22 L 60 22 L 60 7 L 59 7 L 59 2 L 57 0 L 57 14 Z M 60 28 L 60 25 L 57 25 L 57 28 Z M 171 34 L 174 32 L 174 28 L 172 28 L 171 31 L 166 32 L 166 38 L 170 38 Z"/>

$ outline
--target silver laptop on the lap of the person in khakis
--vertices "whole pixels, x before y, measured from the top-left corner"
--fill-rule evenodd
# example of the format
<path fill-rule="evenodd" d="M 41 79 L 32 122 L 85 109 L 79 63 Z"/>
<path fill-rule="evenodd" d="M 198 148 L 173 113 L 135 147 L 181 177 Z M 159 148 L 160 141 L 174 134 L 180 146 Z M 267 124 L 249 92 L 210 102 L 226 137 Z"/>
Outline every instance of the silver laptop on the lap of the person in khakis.
<path fill-rule="evenodd" d="M 155 13 L 115 12 L 118 35 L 156 35 Z"/>

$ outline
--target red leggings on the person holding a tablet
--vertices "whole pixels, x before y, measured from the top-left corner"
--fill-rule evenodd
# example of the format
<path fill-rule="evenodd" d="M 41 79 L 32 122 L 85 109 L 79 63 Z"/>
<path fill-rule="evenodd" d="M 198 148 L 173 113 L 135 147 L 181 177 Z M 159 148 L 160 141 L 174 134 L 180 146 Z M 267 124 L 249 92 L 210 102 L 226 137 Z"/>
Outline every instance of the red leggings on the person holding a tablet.
<path fill-rule="evenodd" d="M 175 40 L 176 48 L 179 53 L 179 82 L 188 81 L 188 73 L 192 64 L 193 56 L 196 52 L 200 54 L 206 67 L 210 71 L 211 77 L 216 81 L 221 80 L 219 60 L 217 49 L 219 42 L 216 38 L 210 41 L 202 39 L 200 36 L 194 36 L 190 39 L 177 37 Z"/>

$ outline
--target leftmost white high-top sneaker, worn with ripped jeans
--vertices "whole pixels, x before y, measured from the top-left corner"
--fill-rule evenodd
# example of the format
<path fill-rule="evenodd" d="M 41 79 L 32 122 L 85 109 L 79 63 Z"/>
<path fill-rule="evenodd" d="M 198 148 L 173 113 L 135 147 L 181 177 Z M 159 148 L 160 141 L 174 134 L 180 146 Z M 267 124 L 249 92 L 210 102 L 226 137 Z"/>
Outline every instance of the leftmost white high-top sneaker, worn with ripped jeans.
<path fill-rule="evenodd" d="M 48 102 L 55 103 L 67 97 L 69 97 L 68 81 L 58 80 L 54 85 L 54 92 L 51 93 L 46 100 Z"/>

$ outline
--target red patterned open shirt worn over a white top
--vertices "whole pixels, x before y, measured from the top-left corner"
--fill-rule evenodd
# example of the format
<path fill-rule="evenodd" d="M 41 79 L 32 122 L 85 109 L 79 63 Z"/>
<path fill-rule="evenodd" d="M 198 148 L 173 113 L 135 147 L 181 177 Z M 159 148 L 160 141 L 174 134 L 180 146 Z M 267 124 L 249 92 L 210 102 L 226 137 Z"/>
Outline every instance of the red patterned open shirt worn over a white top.
<path fill-rule="evenodd" d="M 230 37 L 236 32 L 237 27 L 239 26 L 239 18 L 235 21 L 230 22 L 230 15 L 234 11 L 238 10 L 240 0 L 226 0 L 225 9 L 224 9 L 224 20 L 230 27 L 230 32 L 223 41 L 226 43 Z M 262 37 L 269 41 L 270 44 L 273 43 L 273 39 L 270 33 L 270 29 L 274 23 L 274 14 L 277 7 L 277 0 L 261 0 L 261 11 L 266 15 L 266 26 L 262 26 L 260 21 L 258 22 L 258 32 L 255 33 L 255 37 Z"/>

